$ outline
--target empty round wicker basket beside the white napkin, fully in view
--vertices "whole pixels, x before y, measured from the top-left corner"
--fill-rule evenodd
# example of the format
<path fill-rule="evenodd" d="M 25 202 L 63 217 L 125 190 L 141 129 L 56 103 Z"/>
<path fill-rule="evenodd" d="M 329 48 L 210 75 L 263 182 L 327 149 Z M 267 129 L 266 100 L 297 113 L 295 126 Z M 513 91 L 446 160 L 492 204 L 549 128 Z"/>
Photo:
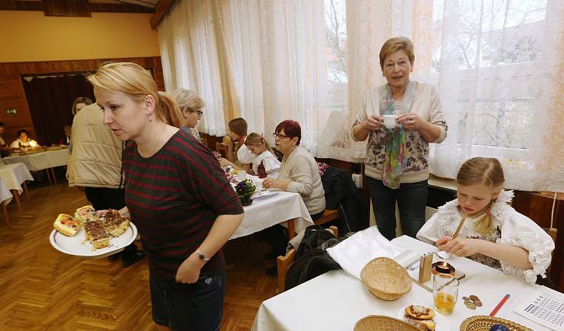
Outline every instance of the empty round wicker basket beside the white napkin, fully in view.
<path fill-rule="evenodd" d="M 411 291 L 412 280 L 407 271 L 391 258 L 375 258 L 364 265 L 360 280 L 376 298 L 397 300 Z"/>

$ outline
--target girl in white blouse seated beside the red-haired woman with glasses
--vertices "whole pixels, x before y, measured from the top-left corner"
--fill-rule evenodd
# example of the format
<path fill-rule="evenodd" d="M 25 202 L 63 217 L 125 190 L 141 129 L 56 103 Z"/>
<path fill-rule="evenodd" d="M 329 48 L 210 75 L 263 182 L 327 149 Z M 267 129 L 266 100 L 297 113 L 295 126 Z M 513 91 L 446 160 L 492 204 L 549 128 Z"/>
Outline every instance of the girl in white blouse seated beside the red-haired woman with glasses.
<path fill-rule="evenodd" d="M 259 178 L 278 178 L 280 161 L 274 157 L 269 143 L 258 133 L 251 133 L 245 140 L 245 145 L 253 154 L 252 171 Z"/>

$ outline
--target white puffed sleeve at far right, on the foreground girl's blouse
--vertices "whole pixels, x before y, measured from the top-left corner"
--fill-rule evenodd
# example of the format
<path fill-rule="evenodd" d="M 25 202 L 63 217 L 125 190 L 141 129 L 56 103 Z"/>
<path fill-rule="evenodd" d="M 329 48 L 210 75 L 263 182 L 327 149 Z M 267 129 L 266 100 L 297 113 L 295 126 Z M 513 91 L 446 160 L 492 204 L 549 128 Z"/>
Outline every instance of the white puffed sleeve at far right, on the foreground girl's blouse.
<path fill-rule="evenodd" d="M 501 225 L 501 238 L 497 243 L 517 246 L 529 252 L 532 269 L 522 270 L 501 262 L 503 272 L 525 279 L 529 284 L 537 282 L 537 275 L 546 277 L 546 269 L 551 264 L 554 242 L 551 236 L 541 229 L 532 219 L 513 210 L 504 213 Z"/>

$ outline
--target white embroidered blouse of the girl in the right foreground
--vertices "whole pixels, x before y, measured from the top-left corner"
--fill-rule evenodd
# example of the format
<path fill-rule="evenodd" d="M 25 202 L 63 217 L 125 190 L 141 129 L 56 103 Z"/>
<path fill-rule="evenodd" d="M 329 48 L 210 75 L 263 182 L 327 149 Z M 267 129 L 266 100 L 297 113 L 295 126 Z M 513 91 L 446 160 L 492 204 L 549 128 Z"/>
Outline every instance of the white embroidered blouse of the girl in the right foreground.
<path fill-rule="evenodd" d="M 482 217 L 467 218 L 462 229 L 460 229 L 459 236 L 524 248 L 529 252 L 529 262 L 532 269 L 523 270 L 500 261 L 501 270 L 506 274 L 525 279 L 529 284 L 534 284 L 537 282 L 537 275 L 546 277 L 545 272 L 551 264 L 554 242 L 532 219 L 520 214 L 507 204 L 512 198 L 513 191 L 501 191 L 496 203 L 491 208 L 492 221 L 494 222 L 492 238 L 483 238 L 474 230 L 474 222 Z M 439 211 L 417 232 L 417 239 L 434 244 L 444 236 L 452 236 L 461 220 L 462 215 L 458 212 L 458 199 L 452 200 L 439 207 Z M 497 230 L 501 231 L 501 236 Z"/>

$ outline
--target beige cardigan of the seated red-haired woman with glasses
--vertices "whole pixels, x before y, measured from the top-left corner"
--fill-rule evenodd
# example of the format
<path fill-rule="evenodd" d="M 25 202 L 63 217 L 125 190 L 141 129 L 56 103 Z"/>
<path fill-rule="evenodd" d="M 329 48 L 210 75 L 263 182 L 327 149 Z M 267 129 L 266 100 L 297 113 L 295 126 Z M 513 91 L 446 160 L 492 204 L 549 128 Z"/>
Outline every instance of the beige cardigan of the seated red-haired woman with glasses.
<path fill-rule="evenodd" d="M 325 191 L 317 162 L 305 148 L 297 146 L 290 155 L 284 155 L 278 180 L 290 181 L 286 191 L 300 193 L 310 215 L 325 210 Z"/>

